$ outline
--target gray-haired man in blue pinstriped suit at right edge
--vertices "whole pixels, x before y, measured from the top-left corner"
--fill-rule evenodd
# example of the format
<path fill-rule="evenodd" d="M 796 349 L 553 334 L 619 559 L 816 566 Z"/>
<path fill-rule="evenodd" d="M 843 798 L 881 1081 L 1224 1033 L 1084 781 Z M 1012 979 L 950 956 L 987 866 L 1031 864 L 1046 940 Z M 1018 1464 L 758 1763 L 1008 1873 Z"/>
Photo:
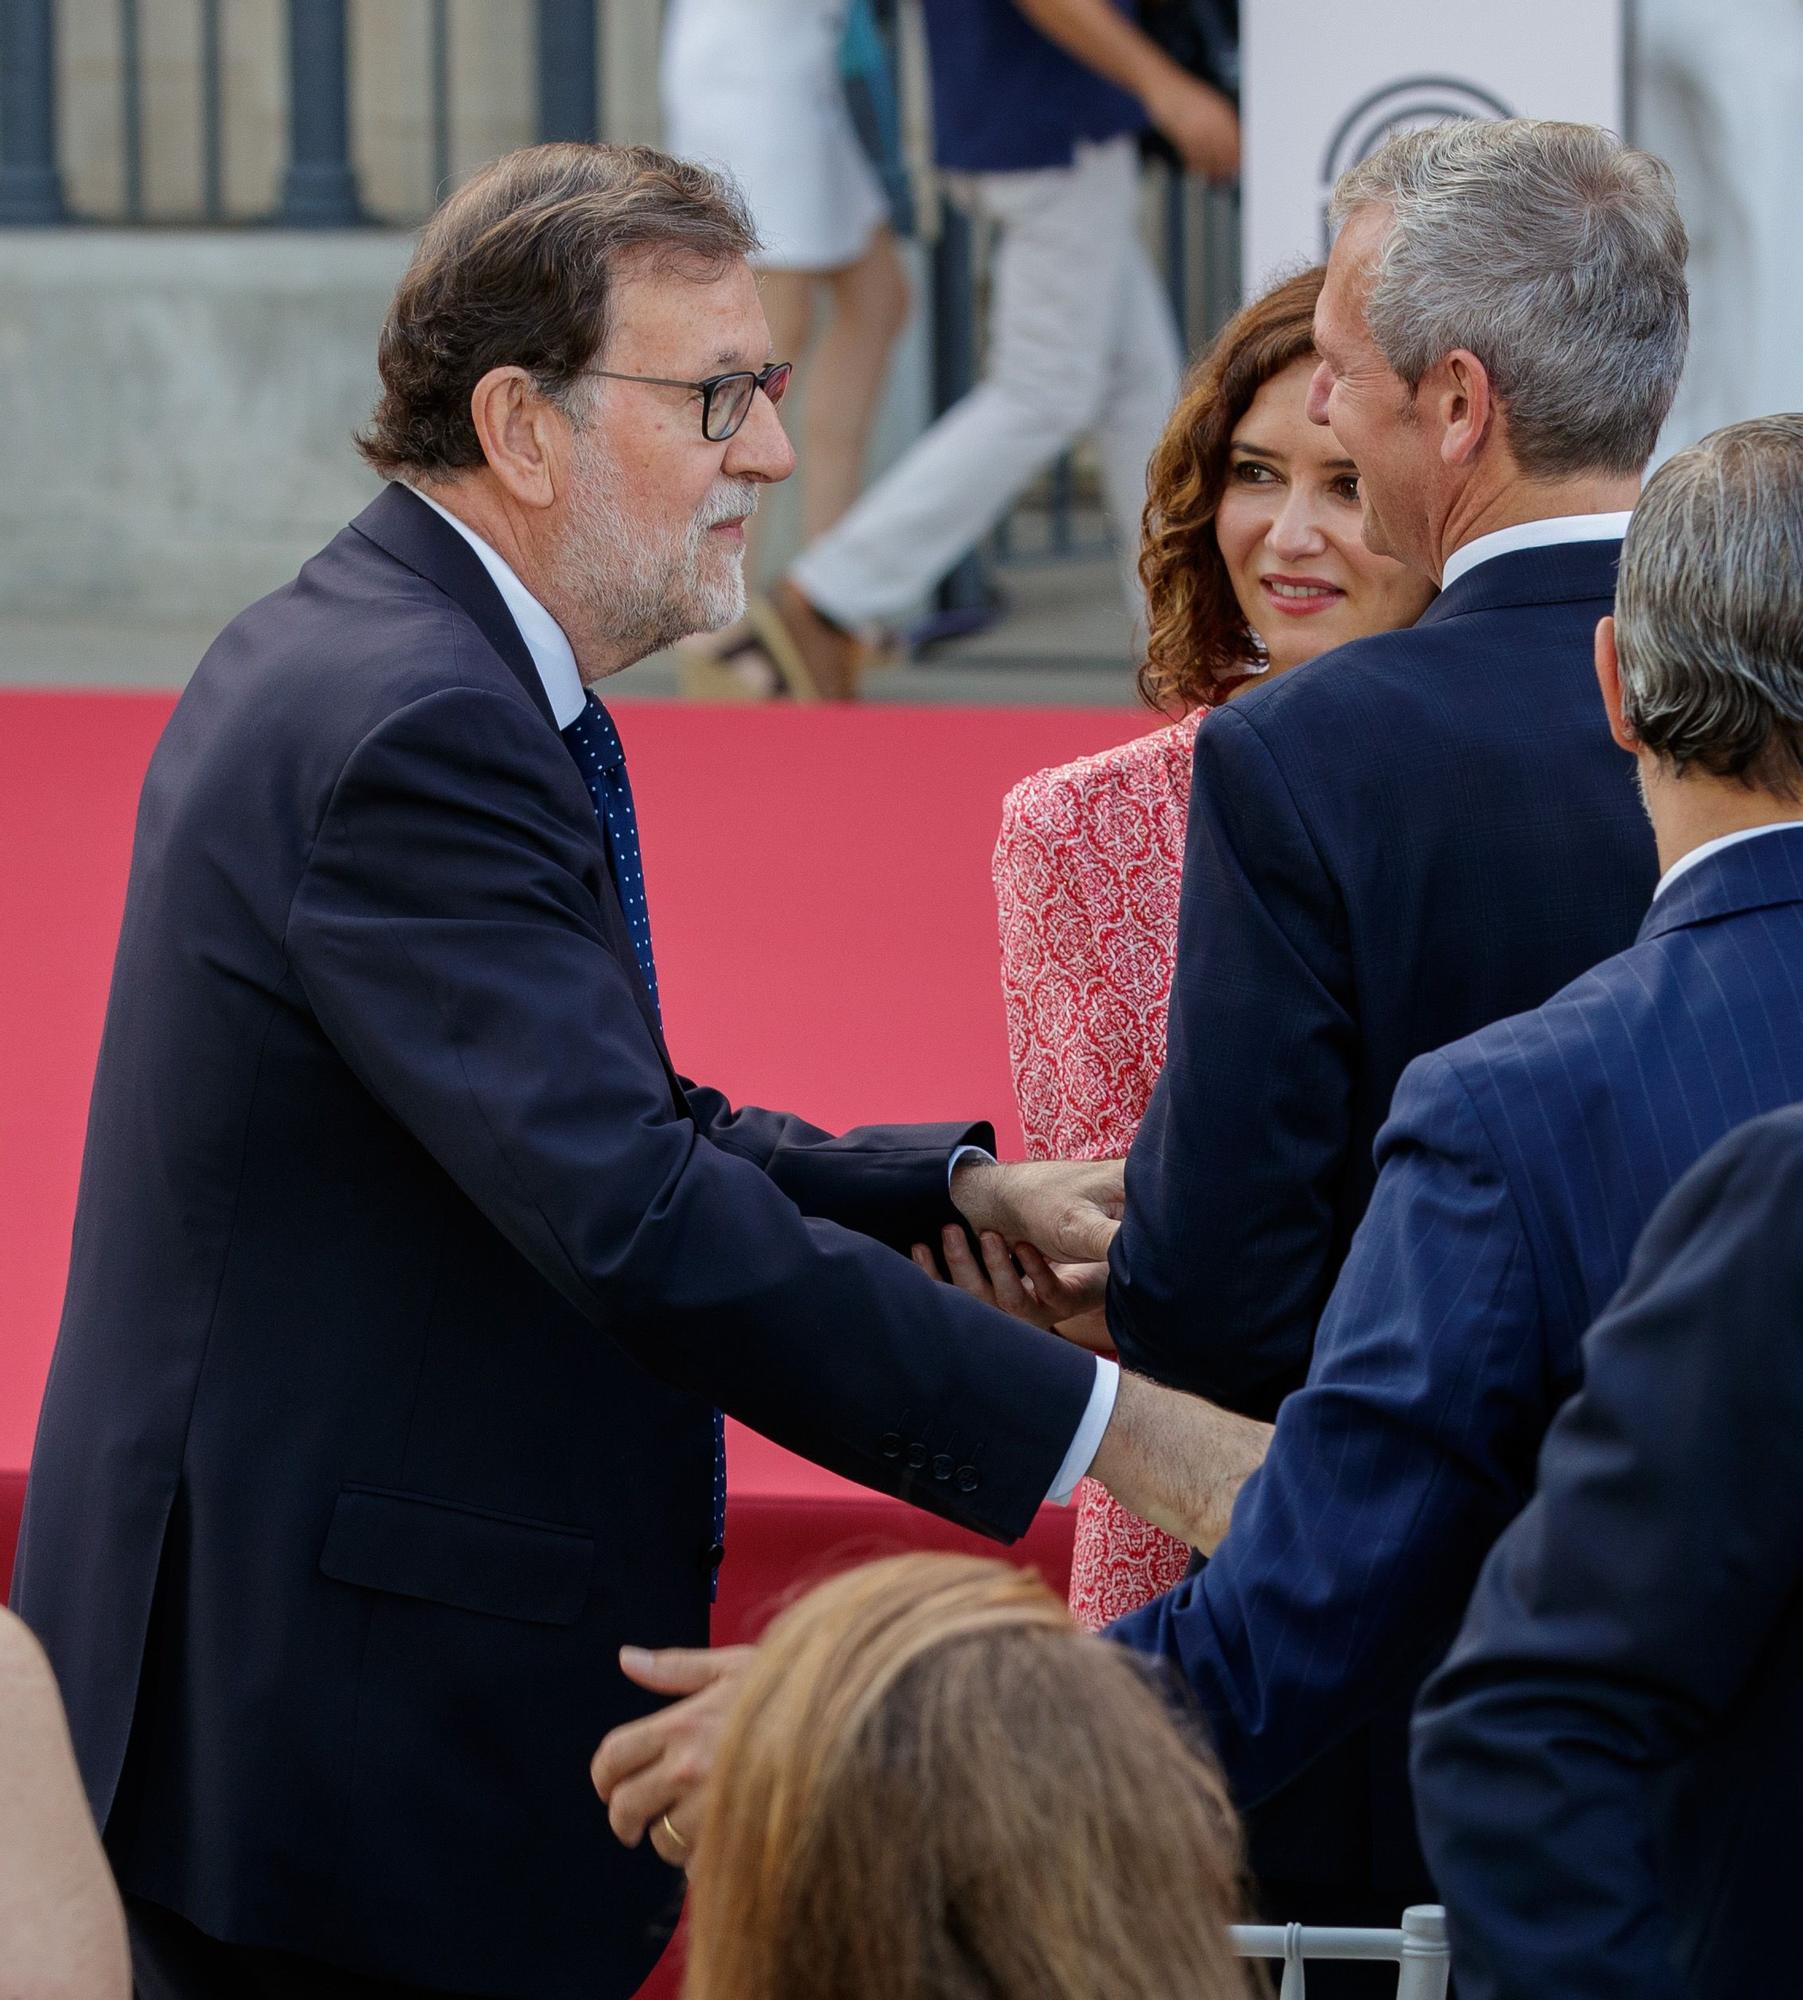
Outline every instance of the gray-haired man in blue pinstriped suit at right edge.
<path fill-rule="evenodd" d="M 1637 942 L 1405 1070 L 1227 1538 L 1111 1628 L 1183 1672 L 1243 1808 L 1419 1688 L 1647 1216 L 1803 1098 L 1803 416 L 1653 478 L 1597 678 L 1663 868 Z"/>

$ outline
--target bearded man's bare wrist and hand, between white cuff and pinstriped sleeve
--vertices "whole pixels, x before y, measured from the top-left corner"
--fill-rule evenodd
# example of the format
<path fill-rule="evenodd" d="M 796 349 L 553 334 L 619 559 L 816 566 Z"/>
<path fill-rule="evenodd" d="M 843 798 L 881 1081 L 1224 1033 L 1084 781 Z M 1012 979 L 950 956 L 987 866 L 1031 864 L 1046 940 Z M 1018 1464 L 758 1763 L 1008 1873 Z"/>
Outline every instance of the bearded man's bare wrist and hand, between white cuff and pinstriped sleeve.
<path fill-rule="evenodd" d="M 1269 1424 L 1121 1370 L 1089 1478 L 1127 1512 L 1213 1552 L 1269 1442 Z"/>

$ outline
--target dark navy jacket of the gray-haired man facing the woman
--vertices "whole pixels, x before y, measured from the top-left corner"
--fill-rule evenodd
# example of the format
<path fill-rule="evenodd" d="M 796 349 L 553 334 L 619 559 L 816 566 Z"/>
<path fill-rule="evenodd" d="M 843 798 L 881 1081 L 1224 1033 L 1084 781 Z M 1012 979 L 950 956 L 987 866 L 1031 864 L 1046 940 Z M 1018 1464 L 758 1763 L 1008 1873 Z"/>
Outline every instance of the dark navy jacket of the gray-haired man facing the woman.
<path fill-rule="evenodd" d="M 1131 1368 L 1271 1416 L 1403 1068 L 1633 942 L 1653 836 L 1591 664 L 1619 552 L 1495 556 L 1201 726 L 1169 1054 L 1111 1256 Z"/>

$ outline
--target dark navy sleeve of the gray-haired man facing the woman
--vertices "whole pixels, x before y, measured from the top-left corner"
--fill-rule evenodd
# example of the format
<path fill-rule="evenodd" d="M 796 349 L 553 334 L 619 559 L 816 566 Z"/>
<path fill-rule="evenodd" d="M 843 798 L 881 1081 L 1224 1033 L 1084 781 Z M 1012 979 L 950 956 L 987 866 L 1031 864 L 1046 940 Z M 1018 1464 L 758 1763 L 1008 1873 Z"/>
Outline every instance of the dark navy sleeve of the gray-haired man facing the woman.
<path fill-rule="evenodd" d="M 1269 1418 L 1307 1372 L 1351 1146 L 1345 916 L 1257 730 L 1195 736 L 1169 1048 L 1127 1158 L 1121 1360 Z"/>

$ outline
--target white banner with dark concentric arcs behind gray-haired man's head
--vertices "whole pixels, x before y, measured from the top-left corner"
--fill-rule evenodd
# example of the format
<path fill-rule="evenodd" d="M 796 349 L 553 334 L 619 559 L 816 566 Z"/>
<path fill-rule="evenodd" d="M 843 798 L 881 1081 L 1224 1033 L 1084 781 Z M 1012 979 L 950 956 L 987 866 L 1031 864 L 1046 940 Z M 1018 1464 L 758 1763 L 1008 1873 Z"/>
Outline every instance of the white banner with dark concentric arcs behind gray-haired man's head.
<path fill-rule="evenodd" d="M 1619 132 L 1625 0 L 1243 0 L 1245 294 L 1327 254 L 1333 182 L 1391 132 L 1569 118 Z"/>

